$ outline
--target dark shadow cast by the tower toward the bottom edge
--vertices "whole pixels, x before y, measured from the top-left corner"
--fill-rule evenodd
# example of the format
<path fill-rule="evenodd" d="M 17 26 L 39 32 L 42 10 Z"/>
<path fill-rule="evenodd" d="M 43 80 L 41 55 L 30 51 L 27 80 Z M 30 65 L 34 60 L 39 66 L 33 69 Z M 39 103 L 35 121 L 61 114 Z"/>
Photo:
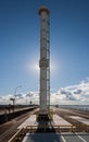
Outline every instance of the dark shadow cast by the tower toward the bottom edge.
<path fill-rule="evenodd" d="M 38 128 L 28 135 L 26 142 L 62 142 L 61 135 L 55 132 L 52 122 L 39 121 Z"/>

